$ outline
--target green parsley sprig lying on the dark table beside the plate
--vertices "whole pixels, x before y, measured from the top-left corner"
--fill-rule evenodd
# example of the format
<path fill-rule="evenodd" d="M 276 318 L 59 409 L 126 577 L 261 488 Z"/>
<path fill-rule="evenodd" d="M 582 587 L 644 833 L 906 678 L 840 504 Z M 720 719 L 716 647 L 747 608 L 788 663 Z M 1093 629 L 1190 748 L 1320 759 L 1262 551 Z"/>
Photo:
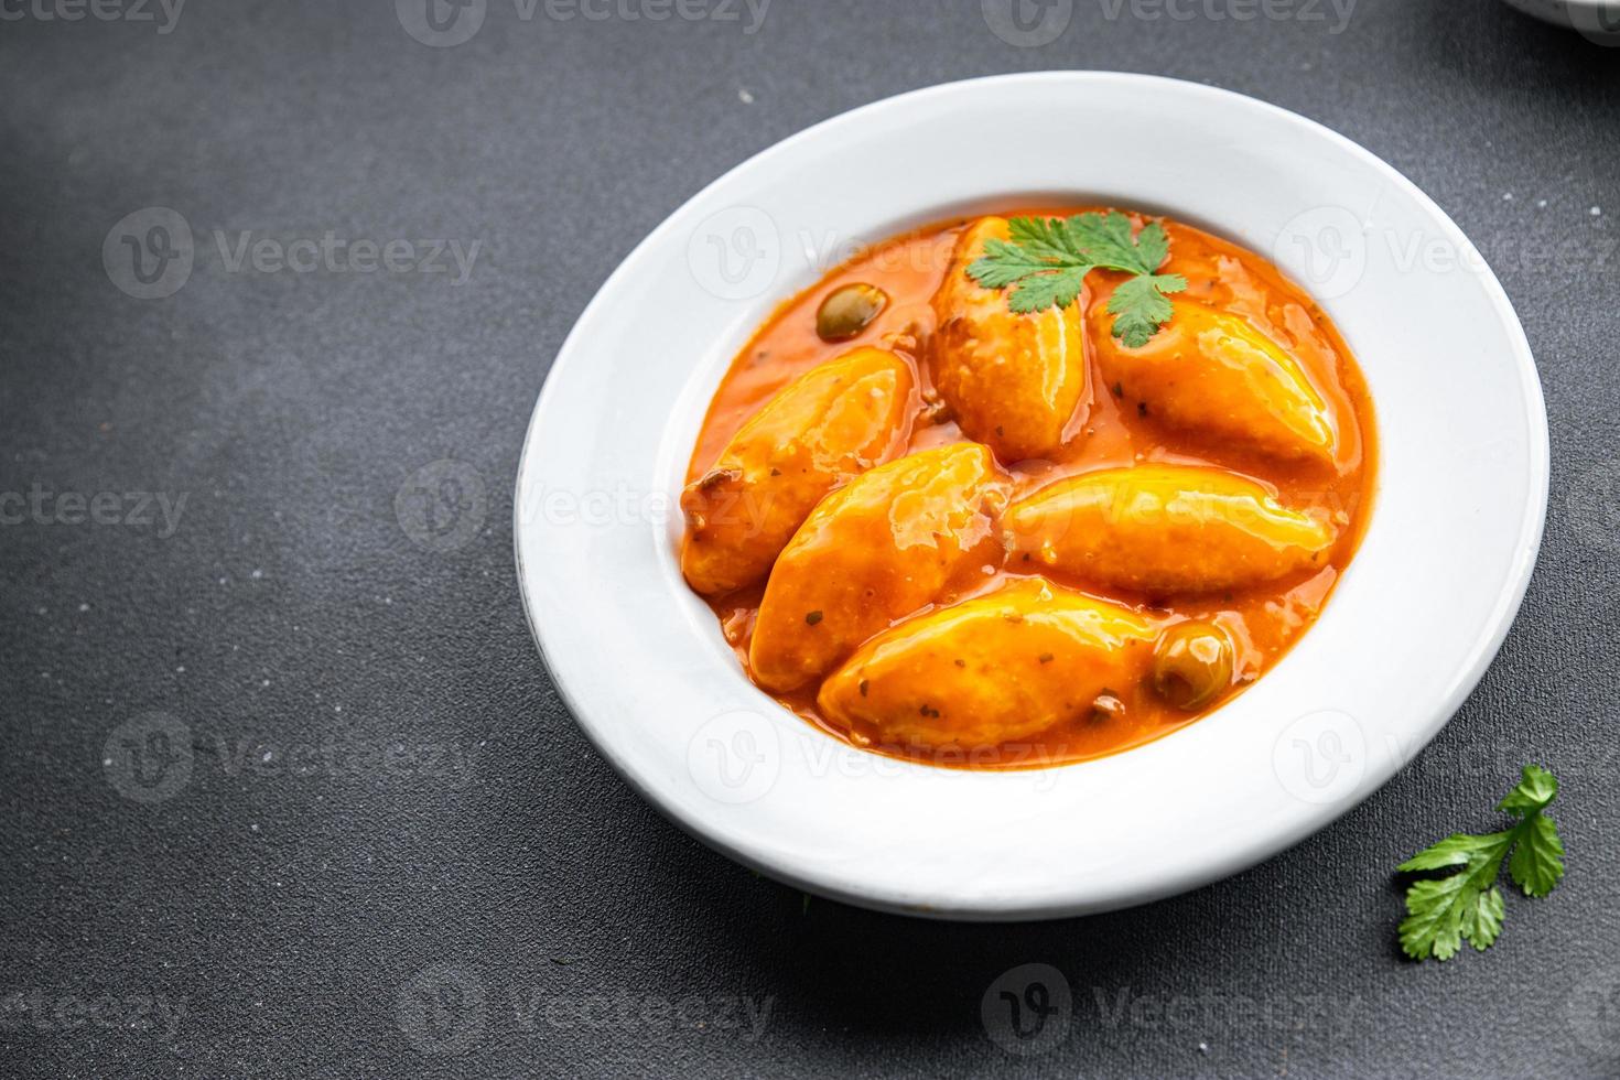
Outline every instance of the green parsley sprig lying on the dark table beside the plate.
<path fill-rule="evenodd" d="M 1526 895 L 1547 895 L 1563 878 L 1563 840 L 1545 814 L 1558 780 L 1539 766 L 1524 766 L 1524 779 L 1497 806 L 1518 818 L 1503 832 L 1456 832 L 1418 852 L 1401 871 L 1458 870 L 1426 878 L 1406 891 L 1401 949 L 1414 960 L 1450 960 L 1466 939 L 1484 952 L 1502 933 L 1502 891 L 1497 876 L 1508 858 L 1508 874 Z"/>

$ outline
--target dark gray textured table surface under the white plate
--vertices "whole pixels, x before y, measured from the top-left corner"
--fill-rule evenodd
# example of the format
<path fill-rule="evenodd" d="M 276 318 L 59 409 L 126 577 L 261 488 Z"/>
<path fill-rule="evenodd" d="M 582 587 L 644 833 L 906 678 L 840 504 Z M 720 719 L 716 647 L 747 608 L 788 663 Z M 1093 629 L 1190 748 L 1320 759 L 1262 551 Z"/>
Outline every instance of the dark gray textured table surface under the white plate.
<path fill-rule="evenodd" d="M 387 0 L 0 3 L 0 1074 L 1620 1075 L 1620 50 L 1487 0 L 1077 0 L 1038 47 L 975 0 L 688 2 L 489 0 L 455 47 Z M 1249 873 L 1045 925 L 807 907 L 559 703 L 512 565 L 525 424 L 603 279 L 721 172 L 1038 68 L 1243 91 L 1432 194 L 1541 366 L 1541 563 L 1435 743 Z M 154 300 L 175 280 L 117 235 L 104 262 L 147 207 L 196 246 Z M 162 251 L 175 217 L 133 222 Z M 411 246 L 369 274 L 292 246 L 329 232 Z M 238 264 L 245 233 L 319 266 Z M 426 240 L 476 243 L 467 280 L 400 269 Z M 1563 780 L 1567 881 L 1510 895 L 1489 954 L 1401 960 L 1392 866 L 1490 827 L 1531 759 Z M 980 1012 L 1025 963 L 1071 993 L 1040 1056 Z"/>

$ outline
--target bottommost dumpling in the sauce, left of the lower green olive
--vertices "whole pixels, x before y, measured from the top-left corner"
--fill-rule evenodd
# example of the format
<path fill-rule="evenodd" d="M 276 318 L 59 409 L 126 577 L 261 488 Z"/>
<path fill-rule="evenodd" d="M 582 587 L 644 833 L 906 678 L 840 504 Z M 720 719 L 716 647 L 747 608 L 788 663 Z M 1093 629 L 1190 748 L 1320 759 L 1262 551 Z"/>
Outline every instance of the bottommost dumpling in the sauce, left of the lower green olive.
<path fill-rule="evenodd" d="M 857 740 L 996 746 L 1131 708 L 1155 636 L 1126 607 L 1019 578 L 872 638 L 816 703 Z"/>

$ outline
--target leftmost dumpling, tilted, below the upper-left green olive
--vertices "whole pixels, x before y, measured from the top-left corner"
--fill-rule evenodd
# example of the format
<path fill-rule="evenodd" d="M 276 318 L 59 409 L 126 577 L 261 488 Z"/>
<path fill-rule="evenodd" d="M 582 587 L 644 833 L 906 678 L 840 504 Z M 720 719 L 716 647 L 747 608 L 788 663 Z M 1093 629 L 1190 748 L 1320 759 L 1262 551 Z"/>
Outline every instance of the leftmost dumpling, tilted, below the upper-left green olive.
<path fill-rule="evenodd" d="M 857 348 L 776 393 L 680 494 L 680 570 L 718 596 L 763 578 L 815 504 L 901 445 L 910 366 Z"/>

